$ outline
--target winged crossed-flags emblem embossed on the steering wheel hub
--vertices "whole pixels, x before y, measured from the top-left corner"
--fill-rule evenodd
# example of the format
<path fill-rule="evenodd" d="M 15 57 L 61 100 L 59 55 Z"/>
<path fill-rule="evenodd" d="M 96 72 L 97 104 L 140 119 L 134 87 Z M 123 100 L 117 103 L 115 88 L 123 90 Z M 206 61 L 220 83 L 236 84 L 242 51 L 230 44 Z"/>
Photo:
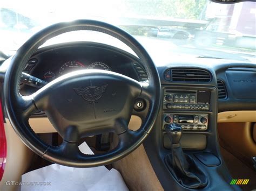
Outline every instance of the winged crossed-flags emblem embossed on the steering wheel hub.
<path fill-rule="evenodd" d="M 107 84 L 102 87 L 89 86 L 84 89 L 74 88 L 75 92 L 82 96 L 84 100 L 89 101 L 90 103 L 97 103 L 103 93 L 106 91 Z"/>

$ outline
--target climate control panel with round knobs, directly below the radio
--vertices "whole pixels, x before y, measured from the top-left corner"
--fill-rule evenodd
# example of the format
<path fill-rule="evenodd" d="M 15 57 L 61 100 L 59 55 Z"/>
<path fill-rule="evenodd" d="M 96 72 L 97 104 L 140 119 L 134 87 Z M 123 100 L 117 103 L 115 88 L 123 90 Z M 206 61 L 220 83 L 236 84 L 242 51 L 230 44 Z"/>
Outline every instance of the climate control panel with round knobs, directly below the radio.
<path fill-rule="evenodd" d="M 201 130 L 208 129 L 208 114 L 172 114 L 163 115 L 163 129 L 165 125 L 177 123 L 183 130 Z"/>

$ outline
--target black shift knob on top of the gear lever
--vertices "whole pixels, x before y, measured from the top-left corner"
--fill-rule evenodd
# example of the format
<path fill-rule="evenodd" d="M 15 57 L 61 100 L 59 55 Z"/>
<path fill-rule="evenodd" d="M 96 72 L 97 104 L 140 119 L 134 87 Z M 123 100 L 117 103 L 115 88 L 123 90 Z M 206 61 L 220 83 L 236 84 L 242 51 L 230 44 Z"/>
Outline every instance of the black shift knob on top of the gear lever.
<path fill-rule="evenodd" d="M 171 123 L 169 125 L 165 125 L 165 130 L 171 141 L 171 144 L 179 143 L 180 138 L 182 136 L 182 128 L 180 125 L 176 123 Z"/>

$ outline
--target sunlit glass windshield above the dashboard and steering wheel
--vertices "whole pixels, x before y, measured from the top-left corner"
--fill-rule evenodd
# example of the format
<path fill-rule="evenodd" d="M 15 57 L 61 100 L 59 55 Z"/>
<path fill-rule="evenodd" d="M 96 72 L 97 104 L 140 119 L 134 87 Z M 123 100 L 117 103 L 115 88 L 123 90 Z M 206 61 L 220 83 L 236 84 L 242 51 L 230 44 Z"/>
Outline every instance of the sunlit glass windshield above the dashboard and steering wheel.
<path fill-rule="evenodd" d="M 121 27 L 148 51 L 255 62 L 256 3 L 207 0 L 0 2 L 0 51 L 12 54 L 53 23 L 103 20 Z"/>

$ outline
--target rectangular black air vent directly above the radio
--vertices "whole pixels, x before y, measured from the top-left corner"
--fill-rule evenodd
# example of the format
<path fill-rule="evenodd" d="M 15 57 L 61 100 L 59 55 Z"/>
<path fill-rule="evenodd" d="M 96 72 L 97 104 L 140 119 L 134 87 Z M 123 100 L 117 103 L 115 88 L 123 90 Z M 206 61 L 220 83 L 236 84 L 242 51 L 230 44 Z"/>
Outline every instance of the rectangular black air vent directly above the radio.
<path fill-rule="evenodd" d="M 179 82 L 210 82 L 211 75 L 203 69 L 173 68 L 171 69 L 172 81 Z"/>

